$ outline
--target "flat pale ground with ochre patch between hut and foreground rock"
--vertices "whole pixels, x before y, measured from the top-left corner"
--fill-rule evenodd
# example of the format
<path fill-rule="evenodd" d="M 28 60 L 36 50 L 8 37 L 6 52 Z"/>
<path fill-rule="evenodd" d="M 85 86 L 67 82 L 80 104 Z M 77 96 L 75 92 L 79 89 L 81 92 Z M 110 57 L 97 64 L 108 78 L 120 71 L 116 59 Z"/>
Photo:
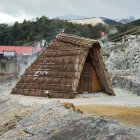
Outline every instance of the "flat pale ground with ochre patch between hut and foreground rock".
<path fill-rule="evenodd" d="M 140 126 L 140 96 L 131 92 L 115 88 L 116 96 L 104 93 L 77 95 L 76 99 L 48 99 L 44 97 L 31 97 L 11 95 L 10 91 L 16 80 L 0 83 L 0 96 L 7 96 L 22 105 L 47 104 L 54 100 L 70 102 L 89 114 L 106 116 L 117 119 L 123 123 Z"/>

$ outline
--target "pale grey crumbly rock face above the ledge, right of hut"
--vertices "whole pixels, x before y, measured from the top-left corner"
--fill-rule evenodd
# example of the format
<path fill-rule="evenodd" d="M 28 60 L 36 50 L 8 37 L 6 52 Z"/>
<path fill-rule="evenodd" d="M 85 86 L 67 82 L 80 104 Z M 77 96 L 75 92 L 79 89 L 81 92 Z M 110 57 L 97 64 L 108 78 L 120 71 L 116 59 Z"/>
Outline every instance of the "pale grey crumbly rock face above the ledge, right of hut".
<path fill-rule="evenodd" d="M 120 47 L 114 47 L 106 64 L 109 71 L 130 70 L 140 73 L 140 41 L 133 40 Z"/>

